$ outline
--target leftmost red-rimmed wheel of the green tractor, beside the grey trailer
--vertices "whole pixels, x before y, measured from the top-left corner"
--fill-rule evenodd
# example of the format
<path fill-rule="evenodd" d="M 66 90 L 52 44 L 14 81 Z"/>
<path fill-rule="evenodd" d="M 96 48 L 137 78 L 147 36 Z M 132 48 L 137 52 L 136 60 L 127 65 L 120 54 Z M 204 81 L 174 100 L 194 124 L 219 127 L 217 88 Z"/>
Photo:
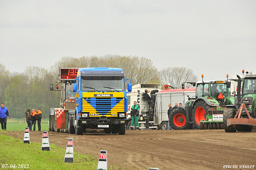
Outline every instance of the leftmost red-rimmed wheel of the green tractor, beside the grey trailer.
<path fill-rule="evenodd" d="M 172 111 L 169 123 L 174 130 L 190 129 L 192 126 L 192 124 L 186 121 L 186 111 L 182 108 L 177 108 Z"/>

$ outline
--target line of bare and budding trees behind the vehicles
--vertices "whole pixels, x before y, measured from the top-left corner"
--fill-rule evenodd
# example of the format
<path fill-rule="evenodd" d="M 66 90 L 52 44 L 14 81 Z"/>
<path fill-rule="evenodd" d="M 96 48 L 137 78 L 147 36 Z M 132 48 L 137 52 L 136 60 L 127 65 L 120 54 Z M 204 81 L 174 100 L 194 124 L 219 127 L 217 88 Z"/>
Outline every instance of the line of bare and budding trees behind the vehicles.
<path fill-rule="evenodd" d="M 182 82 L 196 82 L 197 76 L 186 67 L 168 67 L 160 71 L 152 60 L 138 56 L 106 55 L 60 58 L 49 69 L 28 66 L 24 72 L 10 72 L 0 64 L 0 103 L 8 108 L 10 118 L 24 118 L 27 109 L 39 108 L 42 118 L 48 118 L 50 108 L 60 107 L 60 93 L 50 91 L 56 84 L 58 68 L 113 67 L 124 70 L 132 85 L 139 83 L 168 84 L 181 88 Z"/>

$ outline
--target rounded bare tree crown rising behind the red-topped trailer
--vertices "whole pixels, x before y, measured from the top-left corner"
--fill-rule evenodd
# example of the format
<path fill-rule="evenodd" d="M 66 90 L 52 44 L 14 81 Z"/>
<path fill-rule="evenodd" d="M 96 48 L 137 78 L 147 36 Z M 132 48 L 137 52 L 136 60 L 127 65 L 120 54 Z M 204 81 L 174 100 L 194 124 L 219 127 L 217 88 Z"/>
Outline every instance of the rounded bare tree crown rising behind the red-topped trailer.
<path fill-rule="evenodd" d="M 181 88 L 183 82 L 196 82 L 197 76 L 193 70 L 186 67 L 168 67 L 162 68 L 160 78 L 163 84 L 168 84 L 174 88 Z M 192 85 L 187 84 L 191 87 Z"/>

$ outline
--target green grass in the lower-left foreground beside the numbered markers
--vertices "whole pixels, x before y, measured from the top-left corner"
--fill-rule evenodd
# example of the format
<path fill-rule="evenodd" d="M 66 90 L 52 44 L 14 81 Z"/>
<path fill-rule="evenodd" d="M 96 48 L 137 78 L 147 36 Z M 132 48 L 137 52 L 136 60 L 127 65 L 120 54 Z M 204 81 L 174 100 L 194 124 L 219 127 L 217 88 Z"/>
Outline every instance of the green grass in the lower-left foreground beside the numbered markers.
<path fill-rule="evenodd" d="M 74 152 L 74 163 L 67 163 L 64 162 L 66 150 L 63 148 L 51 144 L 51 151 L 41 151 L 41 143 L 24 144 L 21 139 L 4 135 L 6 132 L 8 131 L 0 133 L 0 167 L 2 169 L 14 169 L 10 166 L 30 170 L 95 170 L 97 168 L 98 160 L 91 156 Z"/>

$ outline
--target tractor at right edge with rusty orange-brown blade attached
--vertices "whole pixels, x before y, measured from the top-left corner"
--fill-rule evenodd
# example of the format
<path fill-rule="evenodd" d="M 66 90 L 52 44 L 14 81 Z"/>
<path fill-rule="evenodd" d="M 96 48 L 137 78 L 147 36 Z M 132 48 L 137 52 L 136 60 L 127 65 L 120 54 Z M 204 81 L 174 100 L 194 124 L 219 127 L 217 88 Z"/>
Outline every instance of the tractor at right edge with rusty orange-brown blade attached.
<path fill-rule="evenodd" d="M 226 106 L 223 113 L 224 129 L 225 132 L 250 132 L 252 126 L 256 126 L 256 74 L 246 72 L 237 78 L 234 80 L 238 82 L 235 104 Z"/>

